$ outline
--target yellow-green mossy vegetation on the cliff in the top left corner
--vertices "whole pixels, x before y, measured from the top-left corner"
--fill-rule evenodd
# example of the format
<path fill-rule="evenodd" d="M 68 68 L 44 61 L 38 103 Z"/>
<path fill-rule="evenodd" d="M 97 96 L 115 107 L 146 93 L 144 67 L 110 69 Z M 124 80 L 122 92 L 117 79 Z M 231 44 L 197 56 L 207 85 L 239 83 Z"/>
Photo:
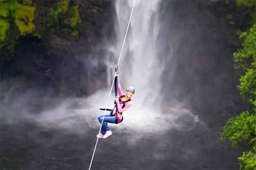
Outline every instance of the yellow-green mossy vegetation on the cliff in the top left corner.
<path fill-rule="evenodd" d="M 47 40 L 51 33 L 77 36 L 81 23 L 78 9 L 71 0 L 57 0 L 51 5 L 43 1 L 0 0 L 0 43 L 3 54 L 6 52 L 2 60 L 9 60 L 20 37 Z"/>

